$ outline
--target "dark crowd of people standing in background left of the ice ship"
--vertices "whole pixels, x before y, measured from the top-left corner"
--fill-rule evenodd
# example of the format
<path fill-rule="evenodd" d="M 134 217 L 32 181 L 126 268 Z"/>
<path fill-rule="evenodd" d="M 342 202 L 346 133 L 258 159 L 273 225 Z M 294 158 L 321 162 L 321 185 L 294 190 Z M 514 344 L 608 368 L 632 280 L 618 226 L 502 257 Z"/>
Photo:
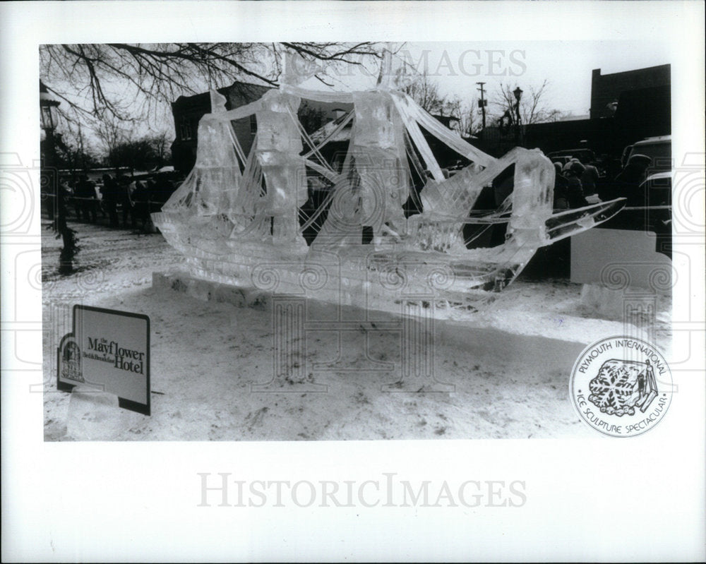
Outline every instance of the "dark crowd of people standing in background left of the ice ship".
<path fill-rule="evenodd" d="M 111 227 L 143 230 L 150 229 L 150 213 L 159 211 L 180 184 L 170 172 L 142 177 L 103 174 L 101 180 L 96 183 L 80 174 L 60 183 L 60 196 L 67 208 L 73 205 L 76 220 L 97 223 L 100 214 Z"/>

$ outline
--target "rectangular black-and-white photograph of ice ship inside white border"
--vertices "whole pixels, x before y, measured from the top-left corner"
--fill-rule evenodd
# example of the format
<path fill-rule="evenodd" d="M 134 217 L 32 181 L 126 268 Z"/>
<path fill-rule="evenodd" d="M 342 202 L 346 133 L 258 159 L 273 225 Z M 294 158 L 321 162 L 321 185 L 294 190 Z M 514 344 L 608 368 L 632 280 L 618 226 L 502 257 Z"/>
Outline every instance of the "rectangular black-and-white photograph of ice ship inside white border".
<path fill-rule="evenodd" d="M 45 440 L 590 433 L 581 349 L 671 348 L 671 65 L 494 47 L 40 46 Z M 147 315 L 149 351 L 97 316 L 64 378 L 76 304 Z M 98 416 L 91 382 L 152 412 Z"/>

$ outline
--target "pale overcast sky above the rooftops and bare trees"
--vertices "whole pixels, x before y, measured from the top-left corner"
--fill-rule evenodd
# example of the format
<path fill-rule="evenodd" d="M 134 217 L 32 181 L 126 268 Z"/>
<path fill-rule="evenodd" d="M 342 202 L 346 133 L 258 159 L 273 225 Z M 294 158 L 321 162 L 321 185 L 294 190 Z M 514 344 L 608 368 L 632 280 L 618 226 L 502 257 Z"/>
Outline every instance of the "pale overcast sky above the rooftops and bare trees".
<path fill-rule="evenodd" d="M 669 44 L 656 41 L 517 41 L 517 42 L 406 42 L 390 44 L 399 49 L 397 56 L 419 72 L 426 72 L 436 82 L 442 95 L 457 96 L 468 102 L 479 97 L 478 82 L 486 83 L 490 100 L 489 114 L 497 111 L 492 102 L 498 98 L 501 83 L 522 90 L 539 88 L 548 80 L 542 105 L 565 114 L 588 114 L 591 97 L 591 73 L 600 68 L 603 74 L 671 63 Z M 397 61 L 399 64 L 399 61 Z M 317 90 L 366 90 L 374 88 L 376 64 L 363 68 L 330 71 L 333 88 L 316 79 L 304 83 Z M 225 85 L 219 85 L 225 86 Z M 125 85 L 112 84 L 107 90 L 120 92 Z M 185 92 L 188 95 L 188 92 Z M 136 109 L 137 111 L 137 109 Z M 168 104 L 151 116 L 148 124 L 136 126 L 137 136 L 154 131 L 174 135 L 174 122 Z M 90 133 L 88 133 L 90 136 Z M 92 137 L 92 136 L 90 136 Z M 98 143 L 94 140 L 94 145 Z"/>

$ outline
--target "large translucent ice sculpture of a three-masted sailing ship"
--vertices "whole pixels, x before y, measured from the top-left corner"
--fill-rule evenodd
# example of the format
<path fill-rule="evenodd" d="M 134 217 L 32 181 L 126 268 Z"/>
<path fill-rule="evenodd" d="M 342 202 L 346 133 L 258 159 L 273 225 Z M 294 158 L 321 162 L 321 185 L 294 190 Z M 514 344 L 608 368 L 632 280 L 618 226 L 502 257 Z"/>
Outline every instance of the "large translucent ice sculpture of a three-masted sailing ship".
<path fill-rule="evenodd" d="M 196 165 L 152 215 L 186 256 L 189 274 L 366 308 L 428 296 L 437 308 L 458 311 L 510 284 L 537 248 L 623 207 L 612 200 L 554 213 L 554 167 L 542 152 L 486 155 L 395 90 L 395 80 L 387 58 L 377 88 L 365 92 L 305 90 L 290 76 L 229 111 L 212 92 Z M 314 143 L 297 119 L 302 98 L 353 109 Z M 246 155 L 232 121 L 252 115 L 257 133 Z M 344 128 L 349 145 L 335 170 L 321 148 Z M 423 129 L 471 164 L 445 178 Z M 497 210 L 474 211 L 484 186 L 511 165 L 510 196 Z M 321 189 L 309 189 L 313 183 Z M 496 226 L 505 230 L 501 244 L 471 248 L 469 239 Z"/>

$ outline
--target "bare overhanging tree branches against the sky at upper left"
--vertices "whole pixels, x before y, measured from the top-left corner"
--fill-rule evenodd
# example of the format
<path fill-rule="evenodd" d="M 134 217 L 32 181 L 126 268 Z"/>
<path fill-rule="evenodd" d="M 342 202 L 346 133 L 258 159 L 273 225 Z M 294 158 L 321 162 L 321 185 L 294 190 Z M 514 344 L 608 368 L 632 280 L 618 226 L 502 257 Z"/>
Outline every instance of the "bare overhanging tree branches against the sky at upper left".
<path fill-rule="evenodd" d="M 134 114 L 136 100 L 140 112 L 149 113 L 179 95 L 235 80 L 275 86 L 286 50 L 321 63 L 316 76 L 322 81 L 337 64 L 364 66 L 381 56 L 381 48 L 368 42 L 47 44 L 40 46 L 40 76 L 66 102 L 70 119 L 124 120 Z"/>

